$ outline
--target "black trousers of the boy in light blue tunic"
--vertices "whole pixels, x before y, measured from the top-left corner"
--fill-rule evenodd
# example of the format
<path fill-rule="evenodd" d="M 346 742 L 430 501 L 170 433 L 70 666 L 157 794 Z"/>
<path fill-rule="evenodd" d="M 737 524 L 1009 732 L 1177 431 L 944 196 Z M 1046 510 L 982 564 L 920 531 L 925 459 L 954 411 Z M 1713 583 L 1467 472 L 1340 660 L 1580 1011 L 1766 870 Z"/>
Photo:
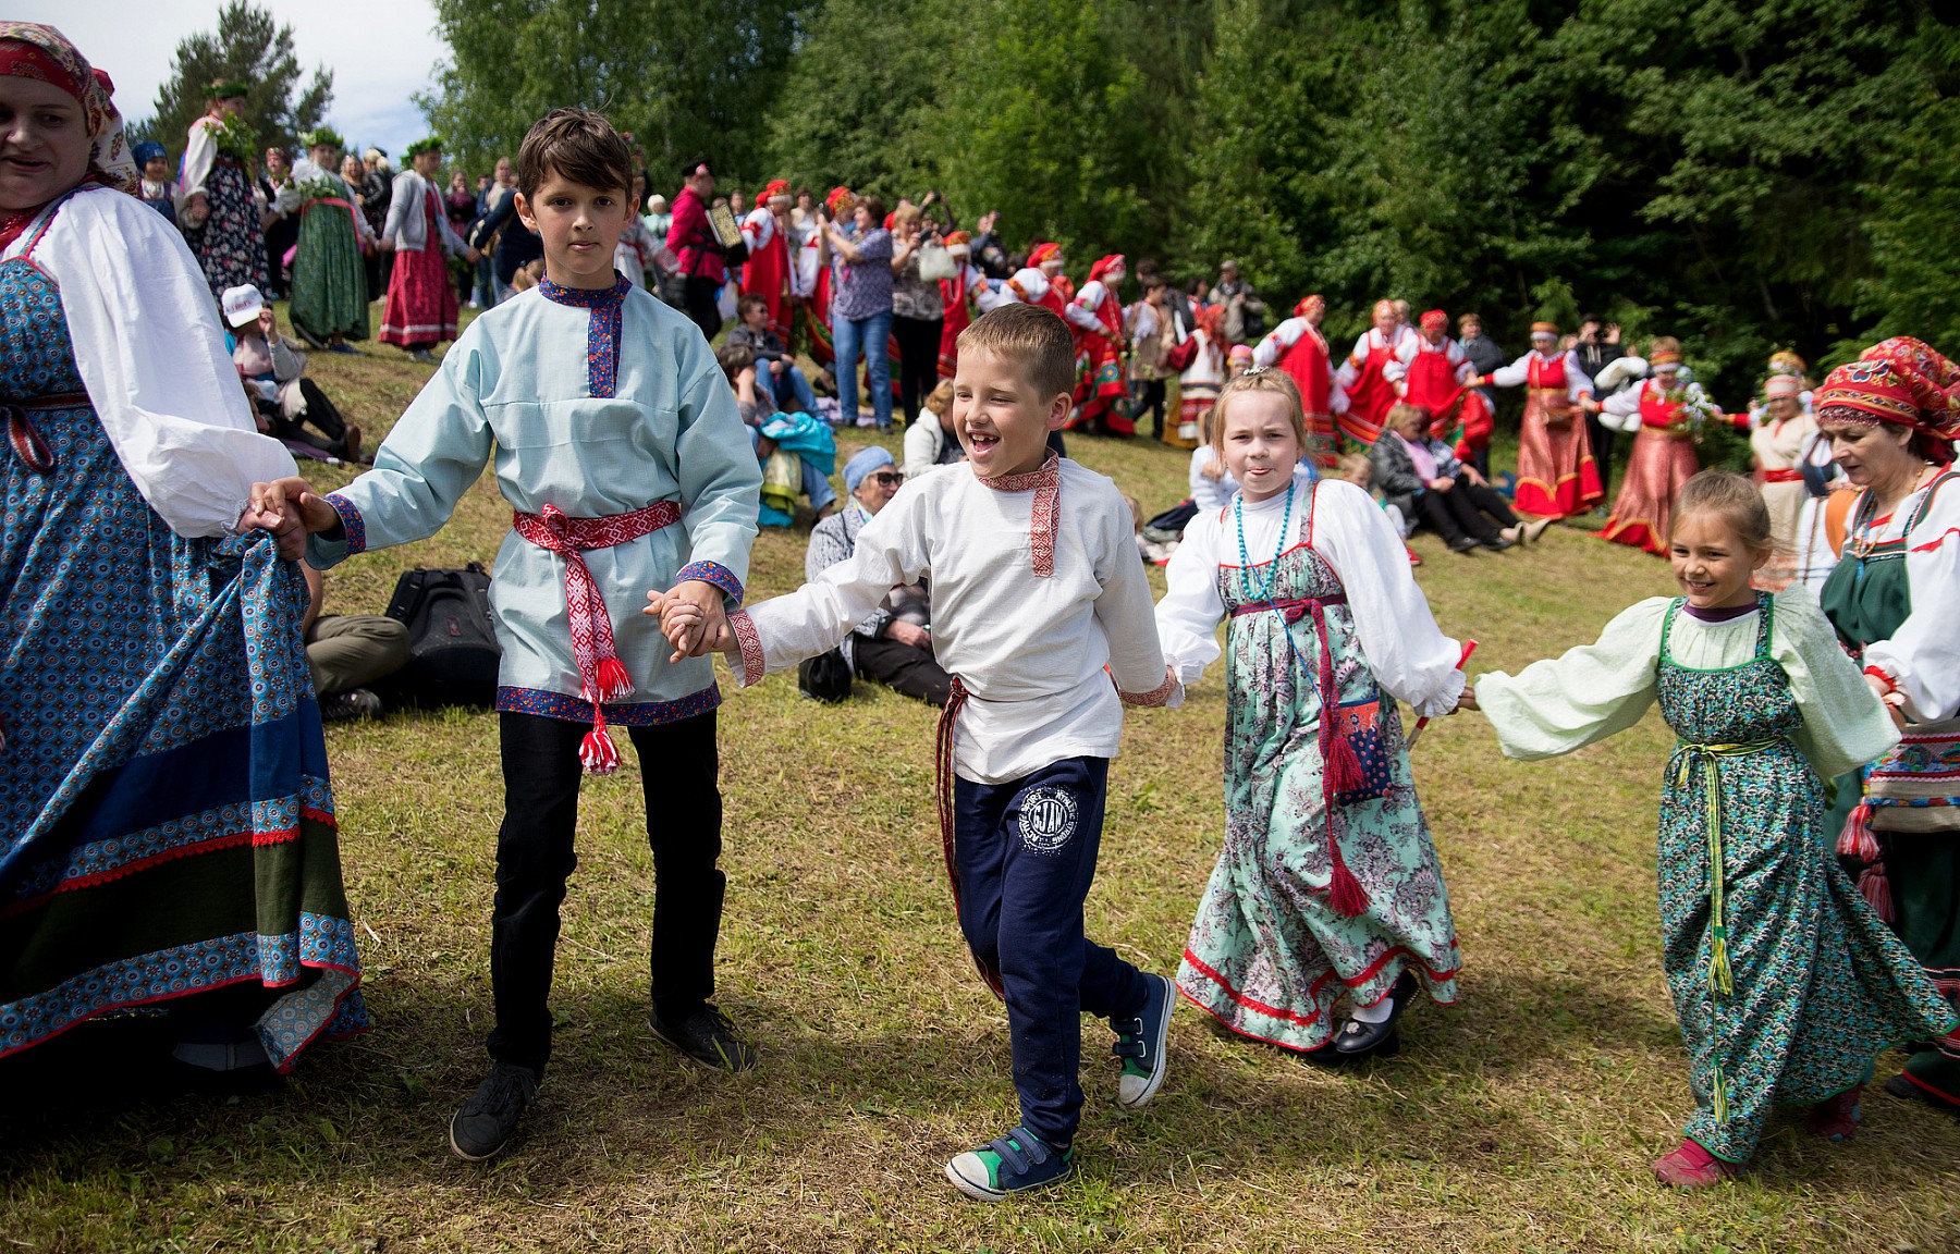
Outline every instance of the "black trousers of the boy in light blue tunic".
<path fill-rule="evenodd" d="M 490 917 L 490 989 L 496 1029 L 490 1056 L 543 1074 L 551 1058 L 551 966 L 564 882 L 578 868 L 578 743 L 586 723 L 529 713 L 498 715 L 504 752 L 504 829 L 496 841 L 496 905 Z M 653 848 L 653 1013 L 686 1019 L 715 991 L 715 937 L 727 878 L 721 856 L 721 788 L 715 715 L 631 735 L 647 797 Z"/>

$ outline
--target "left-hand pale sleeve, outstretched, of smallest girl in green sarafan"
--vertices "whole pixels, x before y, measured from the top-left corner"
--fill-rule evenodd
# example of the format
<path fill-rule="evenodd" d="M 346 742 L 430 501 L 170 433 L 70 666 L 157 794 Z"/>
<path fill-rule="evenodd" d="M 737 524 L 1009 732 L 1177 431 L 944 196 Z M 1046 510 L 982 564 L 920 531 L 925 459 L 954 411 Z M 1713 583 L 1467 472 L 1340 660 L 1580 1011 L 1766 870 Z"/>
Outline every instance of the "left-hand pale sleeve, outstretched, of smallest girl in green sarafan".
<path fill-rule="evenodd" d="M 1480 676 L 1476 701 L 1503 756 L 1537 762 L 1584 748 L 1641 721 L 1654 703 L 1660 627 L 1670 598 L 1621 609 L 1599 639 L 1525 666 Z"/>

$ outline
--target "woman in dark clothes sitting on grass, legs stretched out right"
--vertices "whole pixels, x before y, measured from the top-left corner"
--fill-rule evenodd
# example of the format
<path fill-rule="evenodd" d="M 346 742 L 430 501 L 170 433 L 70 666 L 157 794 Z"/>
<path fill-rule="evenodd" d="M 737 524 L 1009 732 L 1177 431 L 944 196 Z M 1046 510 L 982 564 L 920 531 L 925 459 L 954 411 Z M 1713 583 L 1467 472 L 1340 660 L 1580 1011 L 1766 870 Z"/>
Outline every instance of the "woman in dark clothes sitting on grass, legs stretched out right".
<path fill-rule="evenodd" d="M 1368 460 L 1384 500 L 1411 523 L 1441 535 L 1450 553 L 1503 551 L 1550 527 L 1548 519 L 1519 521 L 1476 466 L 1456 460 L 1450 447 L 1429 433 L 1429 410 L 1421 406 L 1397 402 L 1390 408 Z"/>

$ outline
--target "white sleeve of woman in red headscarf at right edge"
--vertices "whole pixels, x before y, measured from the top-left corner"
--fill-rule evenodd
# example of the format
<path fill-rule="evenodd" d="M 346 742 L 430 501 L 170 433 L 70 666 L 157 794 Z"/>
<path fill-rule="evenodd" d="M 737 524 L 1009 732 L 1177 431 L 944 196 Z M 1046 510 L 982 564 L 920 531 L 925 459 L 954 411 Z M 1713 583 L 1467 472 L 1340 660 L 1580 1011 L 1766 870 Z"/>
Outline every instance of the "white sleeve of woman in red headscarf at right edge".
<path fill-rule="evenodd" d="M 1940 484 L 1905 537 L 1913 611 L 1887 641 L 1864 651 L 1905 692 L 1905 715 L 1931 723 L 1960 715 L 1960 484 Z"/>

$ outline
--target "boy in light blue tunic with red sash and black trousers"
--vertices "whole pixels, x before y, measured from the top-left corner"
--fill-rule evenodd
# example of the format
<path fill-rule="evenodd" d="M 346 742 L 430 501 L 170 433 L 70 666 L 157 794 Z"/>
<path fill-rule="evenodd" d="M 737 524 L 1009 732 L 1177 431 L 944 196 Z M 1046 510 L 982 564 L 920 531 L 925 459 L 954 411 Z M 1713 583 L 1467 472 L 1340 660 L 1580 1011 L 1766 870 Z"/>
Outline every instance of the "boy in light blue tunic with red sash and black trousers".
<path fill-rule="evenodd" d="M 708 629 L 741 602 L 760 472 L 708 341 L 613 272 L 631 157 L 613 127 L 555 110 L 517 155 L 517 214 L 545 241 L 545 280 L 480 315 L 374 455 L 325 498 L 304 480 L 255 490 L 282 547 L 327 568 L 435 533 L 486 464 L 515 511 L 490 600 L 498 643 L 504 827 L 498 835 L 488 1080 L 449 1123 L 468 1160 L 508 1144 L 551 1054 L 553 946 L 580 768 L 619 764 L 625 727 L 655 858 L 653 1029 L 710 1066 L 755 1064 L 713 995 L 721 794 L 708 658 L 670 658 L 633 613 L 649 590 Z M 659 797 L 655 797 L 659 788 Z M 659 799 L 659 805 L 655 801 Z M 655 819 L 659 815 L 659 819 Z"/>

